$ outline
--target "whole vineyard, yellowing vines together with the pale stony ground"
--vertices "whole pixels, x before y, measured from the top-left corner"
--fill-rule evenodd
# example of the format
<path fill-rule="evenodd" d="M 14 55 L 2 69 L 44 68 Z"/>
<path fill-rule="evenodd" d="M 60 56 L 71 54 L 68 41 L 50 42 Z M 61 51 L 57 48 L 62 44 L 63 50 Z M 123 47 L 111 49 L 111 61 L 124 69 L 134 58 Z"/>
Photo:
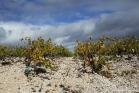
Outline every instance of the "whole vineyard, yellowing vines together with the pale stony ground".
<path fill-rule="evenodd" d="M 0 46 L 0 92 L 113 93 L 139 91 L 139 38 L 75 40 L 74 53 L 51 38 Z M 119 92 L 116 92 L 119 93 Z"/>

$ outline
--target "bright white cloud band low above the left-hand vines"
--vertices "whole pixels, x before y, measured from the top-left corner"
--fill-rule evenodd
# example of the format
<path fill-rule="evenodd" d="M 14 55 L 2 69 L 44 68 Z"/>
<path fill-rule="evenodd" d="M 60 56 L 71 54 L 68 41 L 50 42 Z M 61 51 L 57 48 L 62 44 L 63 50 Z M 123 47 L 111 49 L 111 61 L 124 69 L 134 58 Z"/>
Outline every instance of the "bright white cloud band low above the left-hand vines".
<path fill-rule="evenodd" d="M 94 21 L 82 20 L 75 23 L 61 23 L 58 26 L 51 25 L 32 25 L 24 24 L 21 22 L 0 22 L 0 27 L 3 27 L 7 33 L 5 40 L 1 41 L 2 44 L 9 44 L 10 42 L 21 43 L 19 39 L 29 36 L 36 39 L 42 36 L 45 40 L 49 37 L 56 44 L 62 44 L 70 49 L 75 45 L 75 39 L 81 38 L 93 30 Z M 75 37 L 77 35 L 77 37 Z"/>

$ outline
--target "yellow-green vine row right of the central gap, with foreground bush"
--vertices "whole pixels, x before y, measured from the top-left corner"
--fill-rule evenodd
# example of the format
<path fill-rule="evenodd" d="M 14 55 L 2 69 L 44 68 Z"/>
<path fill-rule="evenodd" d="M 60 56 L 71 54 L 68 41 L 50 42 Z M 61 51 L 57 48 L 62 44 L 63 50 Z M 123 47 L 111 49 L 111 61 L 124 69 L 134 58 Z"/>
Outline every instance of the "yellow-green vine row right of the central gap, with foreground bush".
<path fill-rule="evenodd" d="M 76 40 L 77 46 L 74 49 L 74 55 L 76 57 L 83 57 L 85 64 L 91 66 L 92 72 L 99 72 L 108 61 L 106 56 L 115 57 L 115 55 L 123 54 L 139 54 L 139 38 L 136 36 L 125 36 L 120 40 L 112 37 L 102 36 L 98 39 L 98 42 L 93 42 L 90 37 L 86 42 Z M 96 57 L 88 57 L 88 54 L 95 54 Z M 117 60 L 116 58 L 111 58 Z"/>

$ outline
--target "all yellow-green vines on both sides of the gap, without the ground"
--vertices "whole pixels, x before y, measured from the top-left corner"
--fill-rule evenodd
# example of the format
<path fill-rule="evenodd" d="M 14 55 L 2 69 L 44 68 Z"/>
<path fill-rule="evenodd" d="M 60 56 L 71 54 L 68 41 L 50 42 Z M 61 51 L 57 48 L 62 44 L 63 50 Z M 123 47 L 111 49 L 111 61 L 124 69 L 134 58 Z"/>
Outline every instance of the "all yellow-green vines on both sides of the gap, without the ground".
<path fill-rule="evenodd" d="M 51 38 L 45 41 L 42 37 L 37 40 L 31 40 L 30 37 L 20 39 L 25 43 L 25 46 L 0 46 L 0 59 L 4 57 L 26 57 L 30 62 L 42 62 L 44 56 L 47 57 L 82 57 L 85 65 L 92 68 L 92 72 L 99 72 L 105 62 L 108 60 L 117 60 L 116 55 L 139 55 L 139 38 L 136 36 L 125 36 L 119 40 L 109 36 L 102 36 L 98 38 L 97 42 L 93 42 L 92 37 L 87 41 L 77 42 L 74 48 L 74 54 L 62 45 L 53 44 Z M 97 56 L 97 57 L 96 57 Z M 108 58 L 107 56 L 111 56 Z M 118 61 L 118 60 L 117 60 Z M 47 67 L 47 65 L 46 65 Z"/>

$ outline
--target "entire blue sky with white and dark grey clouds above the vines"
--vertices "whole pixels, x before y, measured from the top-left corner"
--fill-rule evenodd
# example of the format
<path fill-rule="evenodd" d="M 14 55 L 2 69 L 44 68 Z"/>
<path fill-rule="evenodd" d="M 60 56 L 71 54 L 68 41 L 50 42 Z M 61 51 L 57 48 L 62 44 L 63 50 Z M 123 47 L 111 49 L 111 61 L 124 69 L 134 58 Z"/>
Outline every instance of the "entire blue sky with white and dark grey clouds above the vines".
<path fill-rule="evenodd" d="M 73 51 L 76 39 L 139 37 L 139 0 L 0 0 L 0 45 L 49 37 Z"/>

